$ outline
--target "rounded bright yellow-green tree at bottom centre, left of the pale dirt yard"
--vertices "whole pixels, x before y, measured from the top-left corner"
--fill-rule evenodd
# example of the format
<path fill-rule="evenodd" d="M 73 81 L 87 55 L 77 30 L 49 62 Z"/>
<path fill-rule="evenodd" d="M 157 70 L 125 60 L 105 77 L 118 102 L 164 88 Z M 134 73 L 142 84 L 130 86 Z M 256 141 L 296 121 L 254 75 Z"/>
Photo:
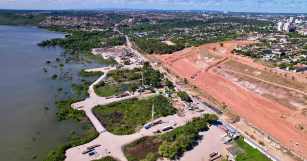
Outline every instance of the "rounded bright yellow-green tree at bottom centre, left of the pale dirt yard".
<path fill-rule="evenodd" d="M 172 143 L 163 142 L 159 147 L 159 154 L 163 157 L 168 157 L 169 159 L 172 157 L 176 157 L 179 153 L 180 145 L 177 141 Z"/>

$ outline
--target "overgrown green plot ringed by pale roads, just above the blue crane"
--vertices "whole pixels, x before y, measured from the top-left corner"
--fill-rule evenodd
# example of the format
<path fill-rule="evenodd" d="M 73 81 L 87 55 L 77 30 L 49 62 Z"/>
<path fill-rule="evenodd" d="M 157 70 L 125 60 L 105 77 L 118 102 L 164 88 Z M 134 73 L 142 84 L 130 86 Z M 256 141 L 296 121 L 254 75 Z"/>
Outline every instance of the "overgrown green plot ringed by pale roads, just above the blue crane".
<path fill-rule="evenodd" d="M 106 130 L 116 135 L 126 135 L 137 132 L 137 126 L 143 126 L 150 121 L 152 105 L 155 105 L 155 118 L 176 113 L 172 104 L 161 95 L 147 100 L 123 100 L 103 106 L 97 105 L 93 108 L 93 113 Z"/>

